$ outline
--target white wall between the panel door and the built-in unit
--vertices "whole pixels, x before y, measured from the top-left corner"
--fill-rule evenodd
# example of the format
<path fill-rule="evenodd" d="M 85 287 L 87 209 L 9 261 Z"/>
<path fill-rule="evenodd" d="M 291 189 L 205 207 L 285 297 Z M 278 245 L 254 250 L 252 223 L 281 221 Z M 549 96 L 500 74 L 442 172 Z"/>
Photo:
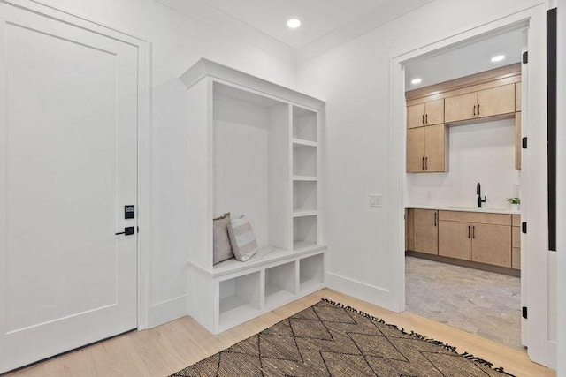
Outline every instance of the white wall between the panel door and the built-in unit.
<path fill-rule="evenodd" d="M 241 34 L 153 0 L 43 0 L 151 42 L 152 225 L 149 326 L 187 313 L 187 90 L 178 77 L 200 57 L 294 87 L 293 57 L 275 57 Z M 187 9 L 185 9 L 187 11 Z M 249 35 L 246 36 L 249 38 Z M 262 41 L 264 44 L 265 41 Z M 279 46 L 274 46 L 278 50 Z M 279 54 L 281 55 L 281 54 Z M 143 211 L 140 212 L 143 216 Z"/>

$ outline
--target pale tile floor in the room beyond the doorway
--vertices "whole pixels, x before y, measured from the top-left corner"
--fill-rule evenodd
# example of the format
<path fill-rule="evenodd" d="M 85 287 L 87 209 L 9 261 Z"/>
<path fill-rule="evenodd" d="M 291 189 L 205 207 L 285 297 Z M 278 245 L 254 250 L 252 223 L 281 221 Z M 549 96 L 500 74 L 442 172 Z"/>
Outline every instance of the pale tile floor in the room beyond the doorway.
<path fill-rule="evenodd" d="M 406 310 L 504 343 L 521 345 L 521 279 L 405 258 Z"/>

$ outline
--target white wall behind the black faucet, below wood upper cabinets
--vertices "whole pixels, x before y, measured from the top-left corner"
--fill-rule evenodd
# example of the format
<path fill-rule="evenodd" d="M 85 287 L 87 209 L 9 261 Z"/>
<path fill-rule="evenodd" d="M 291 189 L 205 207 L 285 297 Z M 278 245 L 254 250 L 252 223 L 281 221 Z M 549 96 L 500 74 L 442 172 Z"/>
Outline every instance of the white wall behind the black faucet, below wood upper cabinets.
<path fill-rule="evenodd" d="M 449 171 L 408 174 L 412 205 L 477 207 L 481 184 L 486 208 L 509 208 L 516 196 L 520 170 L 515 169 L 515 120 L 449 127 Z"/>

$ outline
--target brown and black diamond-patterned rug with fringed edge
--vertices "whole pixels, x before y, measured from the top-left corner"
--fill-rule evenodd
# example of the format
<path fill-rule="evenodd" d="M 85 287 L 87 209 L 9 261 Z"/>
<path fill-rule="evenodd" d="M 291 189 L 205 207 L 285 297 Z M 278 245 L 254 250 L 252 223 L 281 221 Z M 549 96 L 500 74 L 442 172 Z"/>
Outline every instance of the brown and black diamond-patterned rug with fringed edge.
<path fill-rule="evenodd" d="M 175 377 L 510 376 L 486 360 L 323 300 Z"/>

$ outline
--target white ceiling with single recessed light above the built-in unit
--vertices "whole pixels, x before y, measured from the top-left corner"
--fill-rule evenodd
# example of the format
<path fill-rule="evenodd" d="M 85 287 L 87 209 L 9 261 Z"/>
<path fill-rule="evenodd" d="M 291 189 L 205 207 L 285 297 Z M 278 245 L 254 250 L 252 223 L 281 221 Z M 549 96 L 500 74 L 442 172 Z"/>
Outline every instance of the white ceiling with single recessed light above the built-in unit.
<path fill-rule="evenodd" d="M 336 38 L 335 34 L 348 34 L 351 39 L 354 29 L 357 35 L 366 33 L 432 0 L 202 1 L 293 49 L 303 49 L 330 36 Z M 302 26 L 289 29 L 287 19 L 292 18 L 300 19 Z"/>

